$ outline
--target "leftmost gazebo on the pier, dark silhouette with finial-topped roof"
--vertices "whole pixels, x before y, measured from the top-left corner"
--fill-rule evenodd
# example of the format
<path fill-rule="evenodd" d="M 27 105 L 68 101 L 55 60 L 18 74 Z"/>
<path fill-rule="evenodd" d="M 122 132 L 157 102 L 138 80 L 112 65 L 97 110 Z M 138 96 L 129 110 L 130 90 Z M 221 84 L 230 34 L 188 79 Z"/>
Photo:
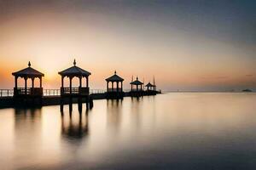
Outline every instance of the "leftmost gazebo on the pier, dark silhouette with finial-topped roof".
<path fill-rule="evenodd" d="M 28 62 L 28 67 L 21 71 L 13 72 L 12 75 L 15 77 L 15 88 L 14 88 L 14 97 L 42 97 L 43 96 L 43 88 L 42 88 L 42 77 L 44 74 L 40 71 L 37 71 L 31 67 L 31 63 Z M 24 78 L 25 80 L 25 87 L 18 88 L 18 78 Z M 34 82 L 35 79 L 38 78 L 40 80 L 39 88 L 35 88 Z M 27 80 L 32 80 L 32 87 L 27 88 Z"/>

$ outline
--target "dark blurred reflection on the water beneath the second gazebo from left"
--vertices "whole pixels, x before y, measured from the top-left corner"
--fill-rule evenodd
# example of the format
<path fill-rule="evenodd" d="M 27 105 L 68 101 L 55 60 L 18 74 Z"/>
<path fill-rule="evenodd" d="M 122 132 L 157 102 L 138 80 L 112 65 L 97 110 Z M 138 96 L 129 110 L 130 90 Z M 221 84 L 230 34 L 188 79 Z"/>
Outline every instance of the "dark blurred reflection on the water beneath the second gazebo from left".
<path fill-rule="evenodd" d="M 69 111 L 61 114 L 61 136 L 67 140 L 81 140 L 89 133 L 88 111 L 79 114 Z"/>

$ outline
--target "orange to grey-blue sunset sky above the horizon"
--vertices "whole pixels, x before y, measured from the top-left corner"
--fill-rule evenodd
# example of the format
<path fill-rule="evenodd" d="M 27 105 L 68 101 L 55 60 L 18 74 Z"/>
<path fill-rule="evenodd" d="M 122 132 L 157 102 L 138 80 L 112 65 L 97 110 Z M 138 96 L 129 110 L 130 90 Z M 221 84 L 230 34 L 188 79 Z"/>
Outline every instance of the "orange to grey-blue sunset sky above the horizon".
<path fill-rule="evenodd" d="M 253 0 L 0 0 L 0 88 L 13 88 L 11 73 L 28 61 L 44 72 L 44 88 L 59 88 L 58 71 L 76 59 L 94 89 L 115 70 L 124 88 L 133 76 L 155 77 L 163 90 L 256 89 L 255 8 Z"/>

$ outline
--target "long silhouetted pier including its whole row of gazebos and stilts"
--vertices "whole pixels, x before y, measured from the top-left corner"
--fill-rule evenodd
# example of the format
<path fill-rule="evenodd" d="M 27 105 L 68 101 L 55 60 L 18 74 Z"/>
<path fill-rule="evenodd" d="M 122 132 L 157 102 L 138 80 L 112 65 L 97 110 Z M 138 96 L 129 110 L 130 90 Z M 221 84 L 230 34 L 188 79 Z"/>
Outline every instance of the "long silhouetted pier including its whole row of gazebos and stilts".
<path fill-rule="evenodd" d="M 60 71 L 61 88 L 59 89 L 44 89 L 42 86 L 42 78 L 44 73 L 37 71 L 28 63 L 28 67 L 13 72 L 15 77 L 15 88 L 0 89 L 0 108 L 14 107 L 42 107 L 44 105 L 60 105 L 61 113 L 63 113 L 63 105 L 69 105 L 69 111 L 72 112 L 73 104 L 79 104 L 79 111 L 82 112 L 83 104 L 86 105 L 86 110 L 93 107 L 94 99 L 123 99 L 124 97 L 142 97 L 144 95 L 160 94 L 156 90 L 155 84 L 150 82 L 143 89 L 143 82 L 138 80 L 131 81 L 131 90 L 123 89 L 124 79 L 119 77 L 114 71 L 112 77 L 106 79 L 106 90 L 90 90 L 89 77 L 91 73 L 76 65 L 76 60 L 73 61 L 73 66 L 64 71 Z M 24 87 L 18 87 L 18 79 L 24 79 Z M 64 78 L 69 79 L 69 86 L 64 87 Z M 73 87 L 73 78 L 79 78 L 79 87 Z M 27 81 L 31 80 L 31 87 L 27 86 Z M 35 87 L 35 81 L 39 80 L 38 87 Z M 83 83 L 85 86 L 83 87 Z M 109 87 L 111 83 L 111 87 Z M 114 86 L 115 85 L 115 86 Z M 120 85 L 120 86 L 119 86 Z M 134 88 L 135 87 L 135 88 Z"/>

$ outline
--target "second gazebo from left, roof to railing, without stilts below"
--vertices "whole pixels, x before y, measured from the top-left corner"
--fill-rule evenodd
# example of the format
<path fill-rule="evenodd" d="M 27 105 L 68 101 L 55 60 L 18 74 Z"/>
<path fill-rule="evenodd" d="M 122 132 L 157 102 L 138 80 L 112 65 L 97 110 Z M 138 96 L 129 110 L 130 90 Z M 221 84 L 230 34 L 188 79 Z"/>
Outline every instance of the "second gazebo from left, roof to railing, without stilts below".
<path fill-rule="evenodd" d="M 73 61 L 73 66 L 60 71 L 59 75 L 61 75 L 61 96 L 88 96 L 89 95 L 89 71 L 84 71 L 76 65 L 76 60 Z M 69 87 L 64 87 L 64 78 L 69 78 Z M 79 88 L 72 87 L 72 79 L 73 77 L 79 77 Z M 82 87 L 82 79 L 86 80 L 86 87 Z"/>

